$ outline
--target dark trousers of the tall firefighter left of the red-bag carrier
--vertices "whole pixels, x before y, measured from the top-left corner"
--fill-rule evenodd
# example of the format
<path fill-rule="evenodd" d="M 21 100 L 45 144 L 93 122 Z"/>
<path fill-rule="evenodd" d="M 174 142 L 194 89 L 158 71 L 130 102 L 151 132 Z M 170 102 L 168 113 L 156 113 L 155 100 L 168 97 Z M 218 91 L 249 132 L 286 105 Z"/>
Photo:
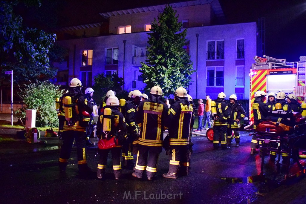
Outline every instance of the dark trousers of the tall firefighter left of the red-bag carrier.
<path fill-rule="evenodd" d="M 73 145 L 73 140 L 76 141 L 76 153 L 79 165 L 79 171 L 87 171 L 87 161 L 86 161 L 86 142 L 85 142 L 85 132 L 68 130 L 64 131 L 62 134 L 63 145 L 59 158 L 59 167 L 61 170 L 65 170 L 68 160 L 70 158 L 70 153 Z"/>

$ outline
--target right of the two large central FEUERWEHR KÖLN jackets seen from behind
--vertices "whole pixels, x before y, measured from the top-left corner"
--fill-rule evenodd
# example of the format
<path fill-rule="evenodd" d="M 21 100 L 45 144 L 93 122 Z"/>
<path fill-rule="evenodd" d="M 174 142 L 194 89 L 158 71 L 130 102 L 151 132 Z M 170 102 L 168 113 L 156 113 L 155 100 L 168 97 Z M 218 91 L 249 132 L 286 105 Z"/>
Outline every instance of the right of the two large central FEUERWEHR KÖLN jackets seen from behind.
<path fill-rule="evenodd" d="M 176 97 L 170 107 L 169 143 L 170 145 L 188 145 L 192 121 L 194 121 L 192 104 L 187 97 Z"/>

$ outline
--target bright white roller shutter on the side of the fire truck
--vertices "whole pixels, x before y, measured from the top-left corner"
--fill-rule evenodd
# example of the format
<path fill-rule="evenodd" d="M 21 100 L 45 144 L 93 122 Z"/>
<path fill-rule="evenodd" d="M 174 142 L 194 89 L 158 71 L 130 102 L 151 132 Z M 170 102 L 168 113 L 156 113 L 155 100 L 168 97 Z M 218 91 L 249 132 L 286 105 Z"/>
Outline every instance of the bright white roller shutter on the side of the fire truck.
<path fill-rule="evenodd" d="M 267 92 L 284 91 L 293 93 L 293 87 L 296 86 L 296 83 L 296 74 L 267 75 Z"/>

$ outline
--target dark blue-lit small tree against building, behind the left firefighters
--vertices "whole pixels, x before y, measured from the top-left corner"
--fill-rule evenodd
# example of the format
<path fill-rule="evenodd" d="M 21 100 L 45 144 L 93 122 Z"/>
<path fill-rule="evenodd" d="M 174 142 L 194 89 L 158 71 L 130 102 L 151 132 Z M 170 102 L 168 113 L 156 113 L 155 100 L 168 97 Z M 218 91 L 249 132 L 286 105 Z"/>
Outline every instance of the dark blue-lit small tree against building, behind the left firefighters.
<path fill-rule="evenodd" d="M 97 74 L 94 76 L 94 85 L 92 88 L 95 90 L 93 98 L 97 103 L 100 103 L 105 98 L 105 94 L 109 90 L 116 92 L 116 97 L 127 98 L 128 92 L 122 90 L 123 78 L 119 77 L 118 74 L 105 75 L 104 73 Z"/>

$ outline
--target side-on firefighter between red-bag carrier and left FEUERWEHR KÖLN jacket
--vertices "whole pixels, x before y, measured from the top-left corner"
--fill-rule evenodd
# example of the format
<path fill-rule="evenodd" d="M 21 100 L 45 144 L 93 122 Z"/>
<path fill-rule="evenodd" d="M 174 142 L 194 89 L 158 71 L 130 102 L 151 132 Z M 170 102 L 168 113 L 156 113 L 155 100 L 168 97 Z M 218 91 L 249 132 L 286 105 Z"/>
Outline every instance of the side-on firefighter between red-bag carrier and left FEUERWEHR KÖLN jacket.
<path fill-rule="evenodd" d="M 123 144 L 122 147 L 122 158 L 123 158 L 123 167 L 125 169 L 133 169 L 134 167 L 134 157 L 132 154 L 133 151 L 133 142 L 136 144 L 138 138 L 139 126 L 135 122 L 135 115 L 137 106 L 142 101 L 142 94 L 139 90 L 134 90 L 131 94 L 131 98 L 126 101 L 124 106 L 124 116 L 126 120 L 126 134 L 127 141 Z"/>

